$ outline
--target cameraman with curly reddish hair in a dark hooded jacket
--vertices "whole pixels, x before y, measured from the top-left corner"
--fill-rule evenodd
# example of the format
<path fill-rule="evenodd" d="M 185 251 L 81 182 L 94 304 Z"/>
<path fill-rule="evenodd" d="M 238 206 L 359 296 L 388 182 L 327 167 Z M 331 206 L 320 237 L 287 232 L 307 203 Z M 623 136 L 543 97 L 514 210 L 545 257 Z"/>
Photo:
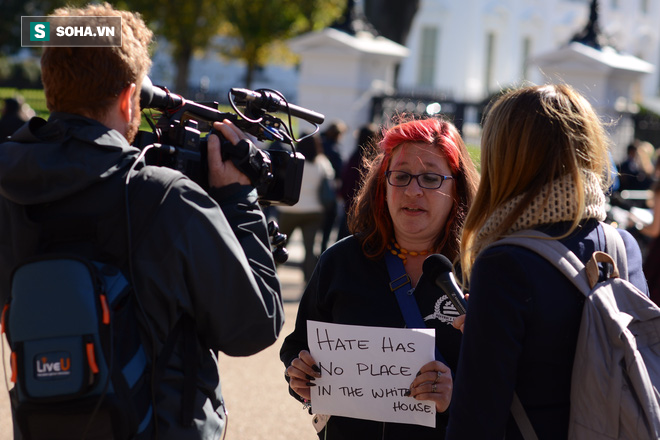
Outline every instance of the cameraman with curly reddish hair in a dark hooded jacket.
<path fill-rule="evenodd" d="M 174 333 L 153 384 L 157 438 L 218 439 L 226 413 L 217 351 L 254 354 L 275 342 L 283 322 L 256 191 L 221 160 L 216 136 L 208 142 L 208 193 L 177 171 L 136 164 L 140 150 L 130 144 L 151 31 L 138 14 L 107 3 L 54 15 L 121 16 L 123 45 L 43 52 L 50 118 L 33 118 L 0 145 L 1 304 L 12 269 L 55 244 L 91 247 L 95 259 L 117 263 L 132 273 L 148 350 L 161 355 L 177 324 L 188 323 Z M 234 144 L 246 138 L 228 121 L 215 128 Z"/>

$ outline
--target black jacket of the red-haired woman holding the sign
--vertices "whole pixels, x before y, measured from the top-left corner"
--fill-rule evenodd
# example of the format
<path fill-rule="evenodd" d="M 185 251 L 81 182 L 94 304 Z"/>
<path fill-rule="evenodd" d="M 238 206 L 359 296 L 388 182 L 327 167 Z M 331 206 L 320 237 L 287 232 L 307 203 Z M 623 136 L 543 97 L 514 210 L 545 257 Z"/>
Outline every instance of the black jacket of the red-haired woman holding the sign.
<path fill-rule="evenodd" d="M 286 366 L 301 350 L 309 350 L 307 320 L 336 324 L 404 328 L 405 320 L 389 287 L 385 259 L 365 257 L 354 236 L 338 241 L 321 255 L 305 289 L 294 331 L 286 337 L 280 358 Z M 452 371 L 456 368 L 461 334 L 451 325 L 456 310 L 439 289 L 420 281 L 415 299 L 427 327 L 436 330 L 436 346 Z M 292 392 L 292 395 L 297 395 Z M 447 412 L 438 414 L 437 428 L 401 423 L 382 423 L 332 416 L 327 439 L 441 439 Z M 322 432 L 325 435 L 325 432 Z M 326 438 L 326 437 L 321 437 Z"/>

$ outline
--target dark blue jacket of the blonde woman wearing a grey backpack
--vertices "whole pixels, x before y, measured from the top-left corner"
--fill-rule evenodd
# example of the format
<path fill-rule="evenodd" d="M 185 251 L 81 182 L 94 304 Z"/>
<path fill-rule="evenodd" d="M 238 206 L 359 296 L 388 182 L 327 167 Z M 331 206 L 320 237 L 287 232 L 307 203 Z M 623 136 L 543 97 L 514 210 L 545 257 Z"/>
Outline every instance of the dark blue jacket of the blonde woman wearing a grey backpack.
<path fill-rule="evenodd" d="M 538 229 L 558 236 L 566 227 Z M 619 232 L 629 280 L 648 294 L 639 246 Z M 560 241 L 585 263 L 605 250 L 595 220 Z M 446 438 L 522 438 L 510 411 L 516 391 L 539 439 L 565 439 L 582 293 L 534 252 L 496 246 L 475 261 L 468 303 Z"/>

